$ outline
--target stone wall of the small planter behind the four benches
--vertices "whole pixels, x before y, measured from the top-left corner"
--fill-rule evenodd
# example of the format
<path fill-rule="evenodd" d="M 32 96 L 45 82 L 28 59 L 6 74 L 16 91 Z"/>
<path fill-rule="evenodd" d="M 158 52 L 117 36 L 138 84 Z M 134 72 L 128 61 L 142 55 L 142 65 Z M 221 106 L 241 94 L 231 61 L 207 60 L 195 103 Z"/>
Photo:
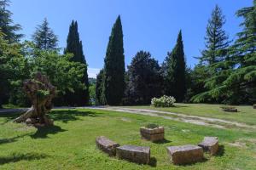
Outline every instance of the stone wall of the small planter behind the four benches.
<path fill-rule="evenodd" d="M 150 140 L 152 142 L 165 139 L 164 127 L 156 127 L 156 128 L 141 127 L 140 133 L 143 139 Z"/>

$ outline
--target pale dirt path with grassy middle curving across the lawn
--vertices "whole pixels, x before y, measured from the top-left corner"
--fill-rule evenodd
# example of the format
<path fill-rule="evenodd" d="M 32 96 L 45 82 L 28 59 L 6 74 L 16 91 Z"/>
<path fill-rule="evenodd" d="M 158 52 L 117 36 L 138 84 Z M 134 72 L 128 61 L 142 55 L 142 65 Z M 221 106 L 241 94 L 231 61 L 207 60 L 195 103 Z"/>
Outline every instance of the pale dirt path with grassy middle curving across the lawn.
<path fill-rule="evenodd" d="M 188 116 L 181 113 L 173 113 L 168 111 L 131 109 L 131 108 L 125 108 L 125 107 L 101 107 L 101 108 L 96 107 L 93 109 L 106 110 L 106 111 L 120 111 L 120 112 L 147 115 L 147 116 L 158 116 L 158 117 L 162 117 L 169 120 L 189 122 L 189 123 L 208 126 L 208 127 L 218 127 L 218 128 L 240 127 L 240 128 L 256 129 L 255 126 L 250 126 L 241 122 L 231 122 L 223 119 L 202 117 L 202 116 Z"/>

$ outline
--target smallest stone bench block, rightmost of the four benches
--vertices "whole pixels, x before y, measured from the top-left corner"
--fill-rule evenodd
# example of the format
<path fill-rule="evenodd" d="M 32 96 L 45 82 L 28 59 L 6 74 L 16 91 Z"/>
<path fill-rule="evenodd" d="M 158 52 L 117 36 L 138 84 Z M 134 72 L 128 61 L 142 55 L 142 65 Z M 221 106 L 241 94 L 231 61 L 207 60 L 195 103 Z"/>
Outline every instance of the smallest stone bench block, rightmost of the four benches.
<path fill-rule="evenodd" d="M 211 155 L 215 155 L 218 152 L 218 138 L 217 137 L 205 137 L 204 140 L 198 144 L 203 150 L 208 151 Z"/>

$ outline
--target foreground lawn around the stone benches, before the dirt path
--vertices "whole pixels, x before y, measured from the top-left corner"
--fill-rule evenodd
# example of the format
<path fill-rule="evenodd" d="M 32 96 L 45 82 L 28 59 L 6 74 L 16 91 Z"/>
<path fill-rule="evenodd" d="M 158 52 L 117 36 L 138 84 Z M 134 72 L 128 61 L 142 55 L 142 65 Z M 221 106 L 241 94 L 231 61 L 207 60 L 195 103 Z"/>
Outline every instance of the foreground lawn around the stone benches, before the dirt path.
<path fill-rule="evenodd" d="M 203 127 L 115 111 L 58 110 L 51 111 L 50 115 L 55 120 L 55 126 L 36 129 L 11 122 L 18 114 L 0 114 L 1 170 L 255 169 L 256 167 L 255 131 Z M 166 143 L 154 144 L 140 138 L 139 127 L 149 122 L 166 128 Z M 137 165 L 108 157 L 96 149 L 95 139 L 101 135 L 119 144 L 150 146 L 152 157 L 150 165 Z M 220 150 L 217 156 L 206 154 L 205 161 L 187 166 L 172 164 L 166 146 L 198 144 L 204 136 L 218 136 Z"/>

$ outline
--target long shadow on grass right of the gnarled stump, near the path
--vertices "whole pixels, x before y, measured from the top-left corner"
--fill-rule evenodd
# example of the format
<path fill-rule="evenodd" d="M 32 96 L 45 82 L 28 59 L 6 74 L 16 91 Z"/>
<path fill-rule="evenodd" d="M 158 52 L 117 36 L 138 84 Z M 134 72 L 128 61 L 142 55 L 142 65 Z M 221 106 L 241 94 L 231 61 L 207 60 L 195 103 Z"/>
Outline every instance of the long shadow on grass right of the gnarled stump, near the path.
<path fill-rule="evenodd" d="M 77 111 L 77 110 L 51 111 L 49 115 L 54 121 L 60 121 L 65 123 L 69 121 L 79 120 L 78 116 L 91 116 L 91 117 L 99 116 L 92 111 Z"/>

